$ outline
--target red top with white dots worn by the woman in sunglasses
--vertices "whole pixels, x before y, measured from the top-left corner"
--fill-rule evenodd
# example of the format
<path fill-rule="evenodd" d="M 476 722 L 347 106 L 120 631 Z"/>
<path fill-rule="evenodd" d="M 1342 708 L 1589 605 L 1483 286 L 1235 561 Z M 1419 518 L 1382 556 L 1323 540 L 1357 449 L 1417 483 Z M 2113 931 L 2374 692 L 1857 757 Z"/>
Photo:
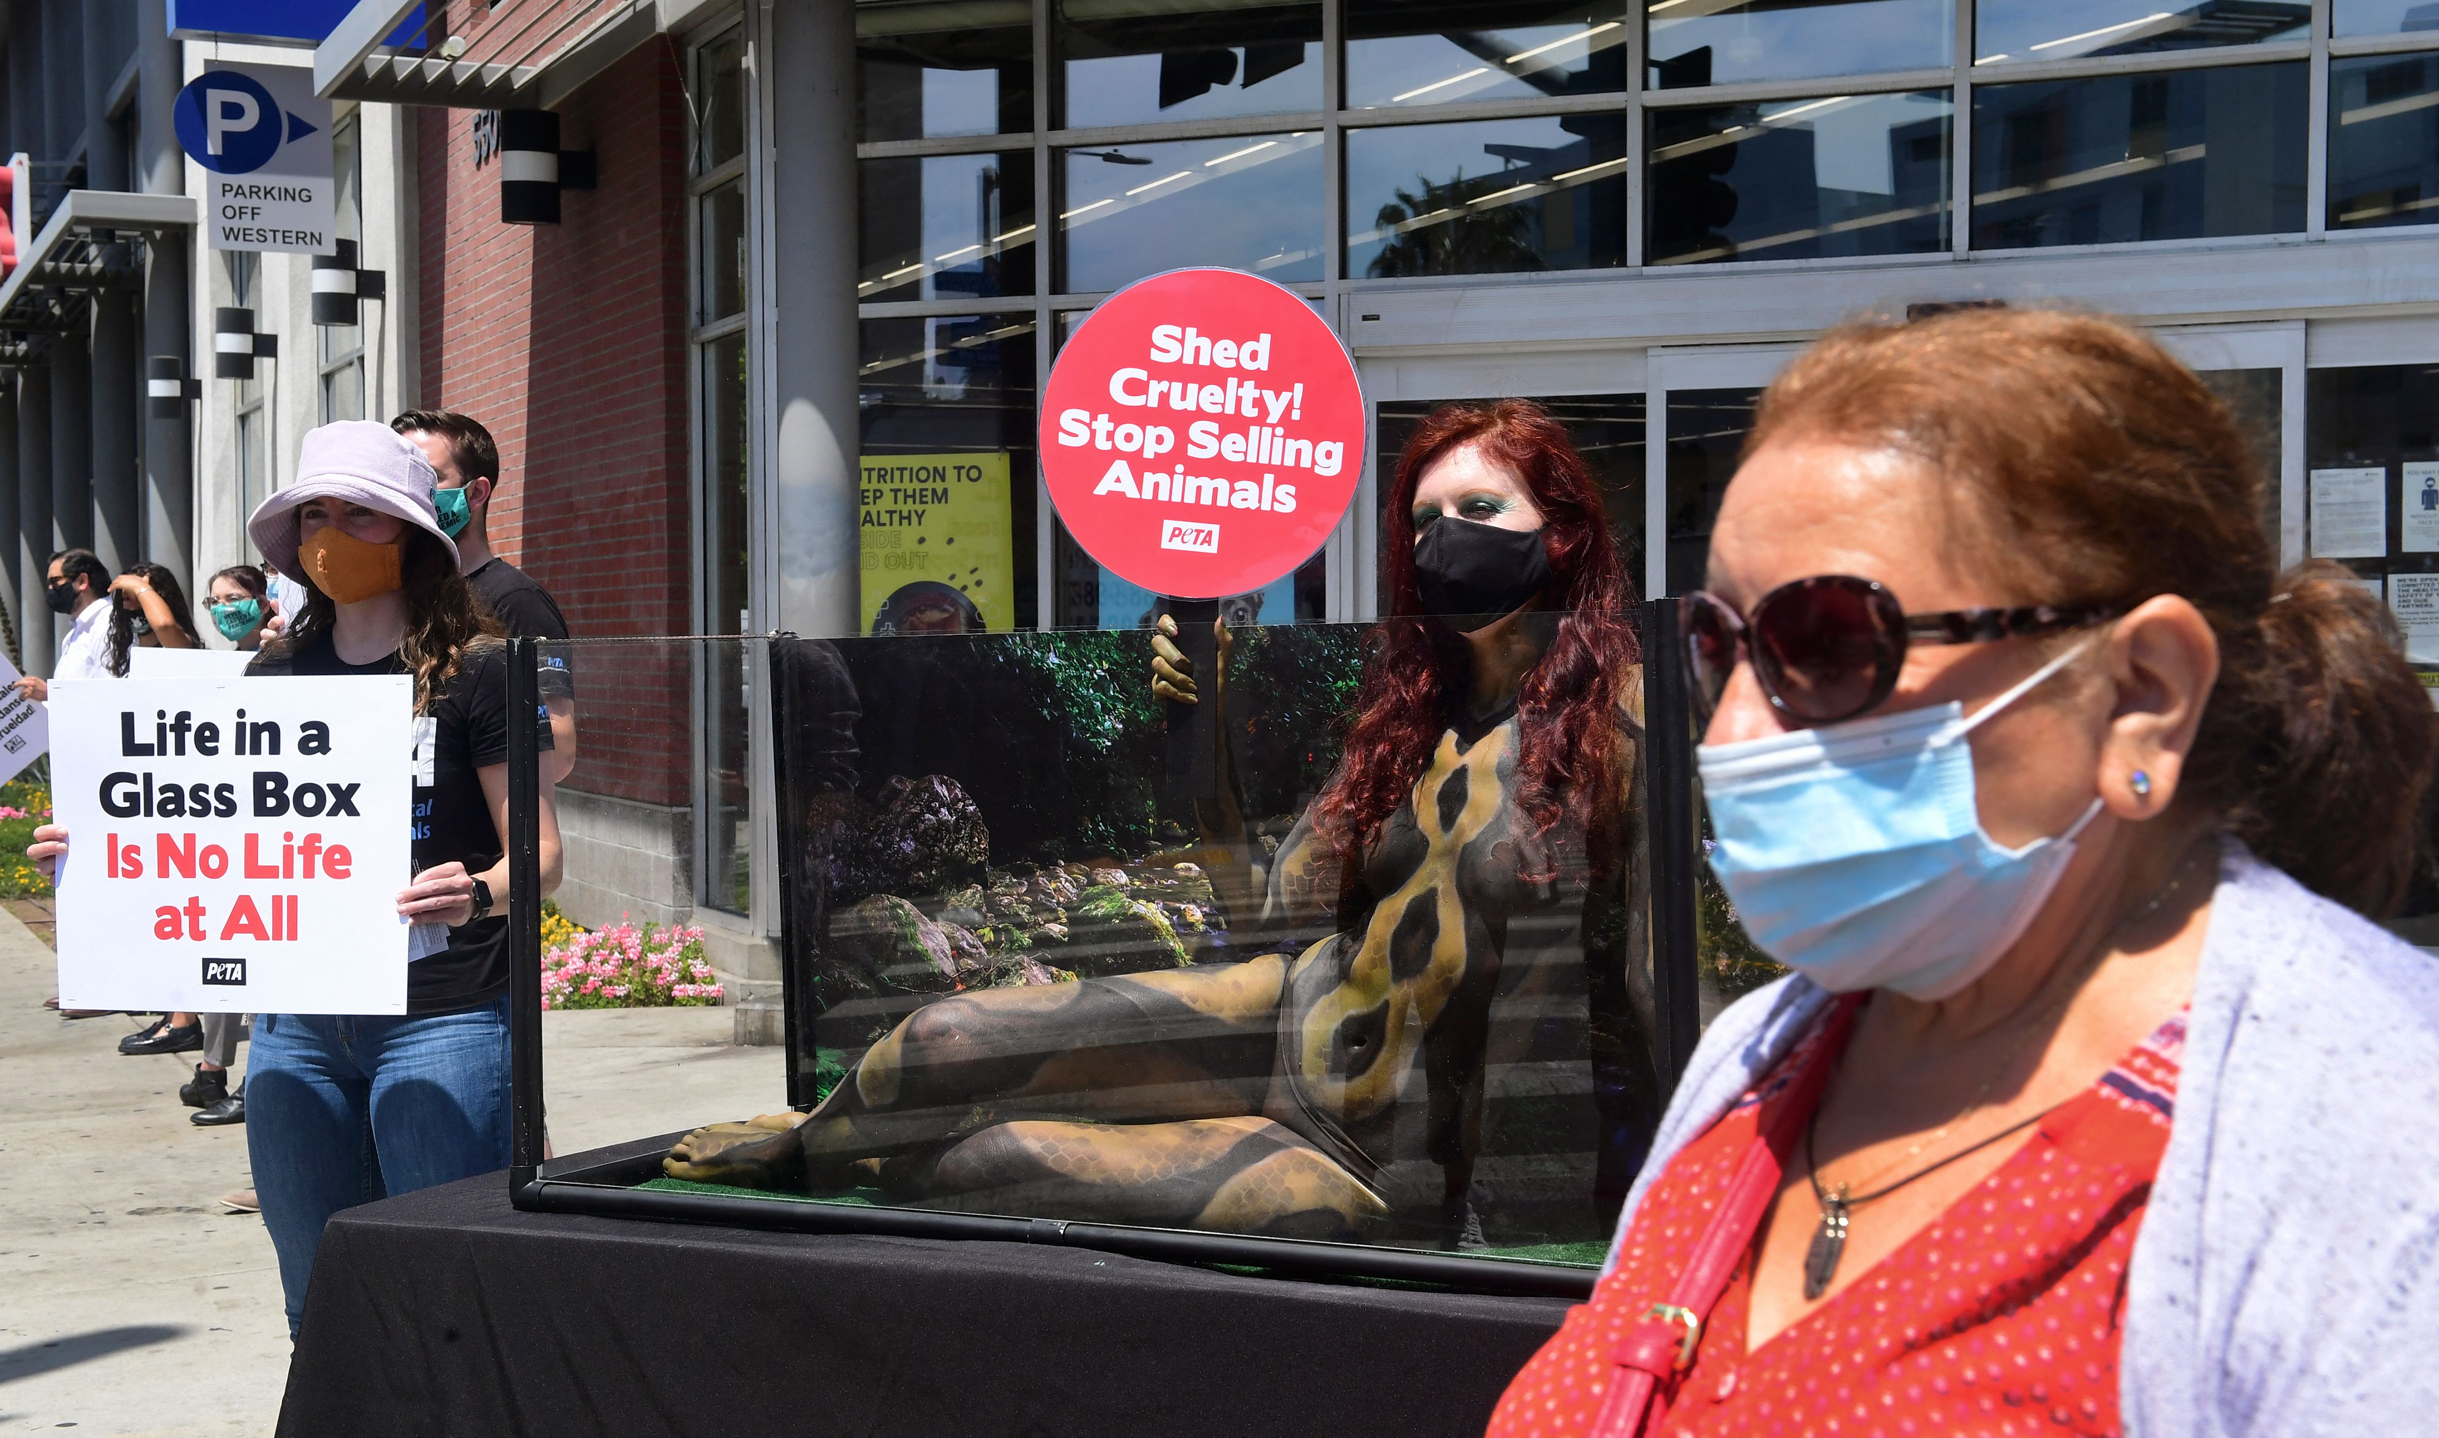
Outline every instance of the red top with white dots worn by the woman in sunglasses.
<path fill-rule="evenodd" d="M 1746 1248 L 1649 1433 L 2117 1433 L 2127 1260 L 2168 1146 L 2183 1043 L 2178 1014 L 1946 1214 L 1754 1353 Z M 1834 1058 L 1815 1031 L 1668 1160 L 1617 1267 L 1507 1384 L 1490 1438 L 1593 1436 L 1627 1326 L 1671 1302 L 1768 1107 L 1802 1065 Z"/>

